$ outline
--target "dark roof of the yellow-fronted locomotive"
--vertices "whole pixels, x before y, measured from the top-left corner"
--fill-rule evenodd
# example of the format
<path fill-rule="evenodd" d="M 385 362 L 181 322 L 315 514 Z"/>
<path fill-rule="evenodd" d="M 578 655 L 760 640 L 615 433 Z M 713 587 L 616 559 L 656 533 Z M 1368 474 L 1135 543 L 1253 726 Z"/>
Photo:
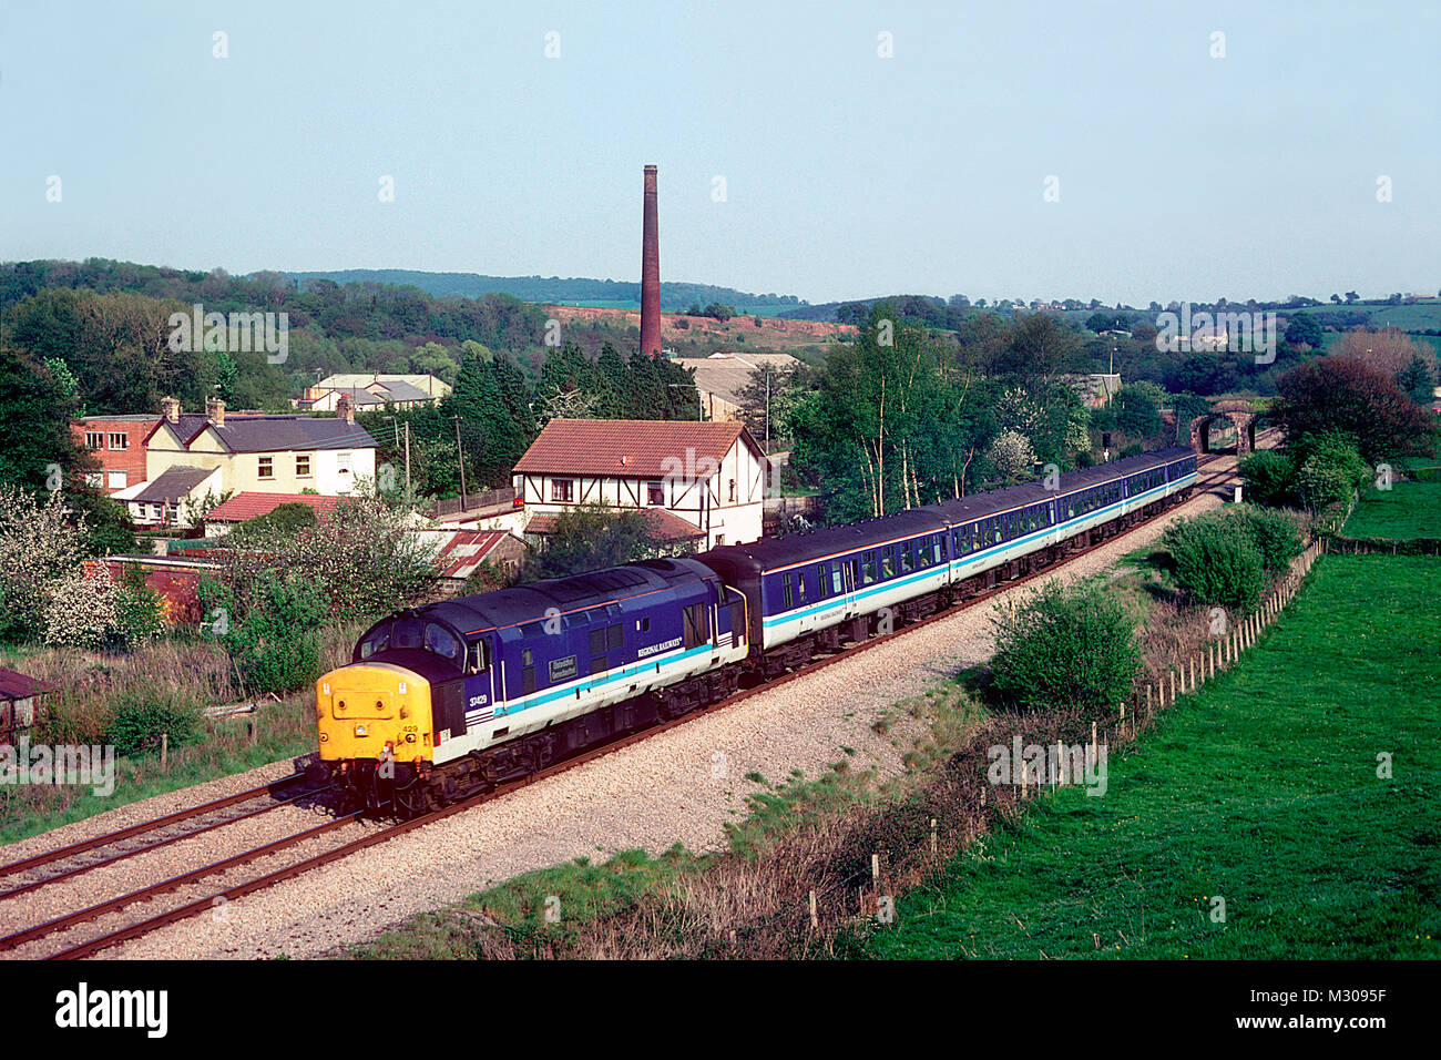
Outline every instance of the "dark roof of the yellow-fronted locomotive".
<path fill-rule="evenodd" d="M 575 574 L 568 578 L 545 578 L 525 586 L 499 588 L 478 596 L 416 607 L 412 613 L 422 619 L 441 619 L 461 633 L 516 626 L 543 619 L 548 609 L 562 614 L 586 607 L 669 588 L 677 581 L 695 581 L 713 574 L 695 560 L 643 560 L 624 567 Z M 391 617 L 401 617 L 399 614 Z"/>

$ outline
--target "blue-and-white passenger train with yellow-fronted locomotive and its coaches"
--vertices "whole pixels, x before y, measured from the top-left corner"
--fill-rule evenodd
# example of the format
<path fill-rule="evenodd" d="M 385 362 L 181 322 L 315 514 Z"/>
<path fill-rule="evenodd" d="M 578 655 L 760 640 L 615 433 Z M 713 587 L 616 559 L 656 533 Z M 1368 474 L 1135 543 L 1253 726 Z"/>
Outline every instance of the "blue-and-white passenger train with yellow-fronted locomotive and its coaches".
<path fill-rule="evenodd" d="M 391 614 L 316 682 L 320 766 L 412 818 L 934 614 L 1190 495 L 1172 447 L 889 516 Z"/>

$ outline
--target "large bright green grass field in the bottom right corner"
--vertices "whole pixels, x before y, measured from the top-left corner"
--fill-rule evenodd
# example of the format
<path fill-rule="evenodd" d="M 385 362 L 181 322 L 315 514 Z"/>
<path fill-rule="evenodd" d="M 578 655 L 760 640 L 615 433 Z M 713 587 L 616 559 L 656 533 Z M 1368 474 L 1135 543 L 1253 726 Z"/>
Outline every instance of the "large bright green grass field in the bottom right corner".
<path fill-rule="evenodd" d="M 1033 803 L 870 953 L 1441 956 L 1438 597 L 1434 558 L 1323 557 L 1238 669 L 1110 761 L 1107 795 Z"/>

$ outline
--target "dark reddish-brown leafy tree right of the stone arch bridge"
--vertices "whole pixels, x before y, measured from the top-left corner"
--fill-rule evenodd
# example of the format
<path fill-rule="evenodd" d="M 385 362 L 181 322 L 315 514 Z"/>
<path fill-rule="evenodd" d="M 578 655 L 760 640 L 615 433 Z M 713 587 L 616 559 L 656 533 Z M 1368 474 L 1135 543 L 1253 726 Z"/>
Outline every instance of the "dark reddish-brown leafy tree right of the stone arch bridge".
<path fill-rule="evenodd" d="M 1288 447 L 1304 447 L 1307 436 L 1334 430 L 1355 438 L 1372 464 L 1434 451 L 1432 417 L 1393 378 L 1356 358 L 1333 353 L 1298 365 L 1277 379 L 1277 391 L 1272 415 Z"/>

